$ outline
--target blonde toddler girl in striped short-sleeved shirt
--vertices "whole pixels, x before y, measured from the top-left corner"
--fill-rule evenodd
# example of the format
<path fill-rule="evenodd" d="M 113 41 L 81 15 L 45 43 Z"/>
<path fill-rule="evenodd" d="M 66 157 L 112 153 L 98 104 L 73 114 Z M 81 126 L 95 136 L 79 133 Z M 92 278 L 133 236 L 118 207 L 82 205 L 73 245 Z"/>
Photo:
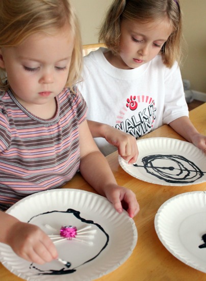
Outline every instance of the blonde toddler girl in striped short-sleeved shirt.
<path fill-rule="evenodd" d="M 131 217 L 135 194 L 121 186 L 89 131 L 80 79 L 82 42 L 69 0 L 0 2 L 0 207 L 61 188 L 80 170 L 116 210 Z M 26 212 L 26 210 L 25 210 Z M 0 211 L 0 242 L 43 264 L 57 250 L 37 226 Z"/>

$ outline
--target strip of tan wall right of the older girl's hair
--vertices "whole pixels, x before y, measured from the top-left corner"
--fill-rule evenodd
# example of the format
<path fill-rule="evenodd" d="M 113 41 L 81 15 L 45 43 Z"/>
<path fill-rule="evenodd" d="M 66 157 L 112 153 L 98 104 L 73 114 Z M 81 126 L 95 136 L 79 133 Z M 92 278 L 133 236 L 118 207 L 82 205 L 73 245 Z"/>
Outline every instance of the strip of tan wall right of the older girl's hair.
<path fill-rule="evenodd" d="M 181 0 L 181 3 L 188 44 L 182 76 L 190 80 L 192 89 L 206 93 L 206 0 Z"/>

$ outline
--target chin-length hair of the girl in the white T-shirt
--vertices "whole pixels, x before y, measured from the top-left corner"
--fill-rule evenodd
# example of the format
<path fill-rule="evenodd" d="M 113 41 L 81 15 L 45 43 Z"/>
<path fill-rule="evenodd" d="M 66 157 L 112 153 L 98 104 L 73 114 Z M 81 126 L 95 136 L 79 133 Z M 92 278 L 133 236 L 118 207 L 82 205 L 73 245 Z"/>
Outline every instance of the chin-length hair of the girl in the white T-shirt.
<path fill-rule="evenodd" d="M 168 17 L 173 32 L 161 49 L 163 63 L 172 67 L 179 64 L 185 40 L 182 34 L 182 12 L 179 0 L 114 0 L 99 32 L 99 42 L 104 42 L 114 54 L 119 53 L 121 21 L 123 19 L 150 22 Z"/>

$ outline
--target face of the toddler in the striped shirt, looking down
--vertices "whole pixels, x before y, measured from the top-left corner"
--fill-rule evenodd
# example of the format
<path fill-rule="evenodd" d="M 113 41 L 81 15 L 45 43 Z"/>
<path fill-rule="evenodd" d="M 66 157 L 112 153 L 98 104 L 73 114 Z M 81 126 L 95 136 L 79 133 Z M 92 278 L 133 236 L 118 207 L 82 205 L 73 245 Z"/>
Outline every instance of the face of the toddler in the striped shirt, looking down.
<path fill-rule="evenodd" d="M 6 69 L 10 88 L 27 109 L 49 104 L 63 90 L 74 40 L 65 26 L 51 34 L 35 33 L 20 45 L 0 50 L 0 66 Z"/>

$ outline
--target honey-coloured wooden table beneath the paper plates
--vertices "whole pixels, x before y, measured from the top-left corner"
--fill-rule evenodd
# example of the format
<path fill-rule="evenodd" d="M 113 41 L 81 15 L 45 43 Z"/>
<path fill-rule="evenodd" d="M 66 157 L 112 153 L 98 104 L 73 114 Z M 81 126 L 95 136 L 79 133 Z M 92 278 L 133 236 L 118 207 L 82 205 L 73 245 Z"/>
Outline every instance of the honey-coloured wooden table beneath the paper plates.
<path fill-rule="evenodd" d="M 206 135 L 206 103 L 190 111 L 190 119 L 197 130 Z M 143 136 L 171 137 L 185 140 L 167 125 Z M 137 230 L 137 245 L 128 260 L 115 271 L 102 276 L 101 281 L 190 281 L 206 280 L 206 274 L 193 269 L 177 260 L 160 242 L 155 231 L 154 219 L 159 207 L 169 198 L 190 191 L 206 191 L 206 182 L 186 186 L 164 186 L 138 180 L 128 175 L 120 167 L 118 154 L 107 156 L 110 167 L 119 185 L 135 192 L 140 204 L 140 212 L 134 218 Z M 205 163 L 206 166 L 206 163 Z M 64 188 L 83 189 L 95 192 L 91 186 L 76 174 Z M 206 254 L 206 253 L 205 253 Z M 21 278 L 13 275 L 0 264 L 1 281 L 17 281 Z M 68 277 L 69 280 L 69 277 Z M 58 281 L 58 278 L 57 278 Z"/>

